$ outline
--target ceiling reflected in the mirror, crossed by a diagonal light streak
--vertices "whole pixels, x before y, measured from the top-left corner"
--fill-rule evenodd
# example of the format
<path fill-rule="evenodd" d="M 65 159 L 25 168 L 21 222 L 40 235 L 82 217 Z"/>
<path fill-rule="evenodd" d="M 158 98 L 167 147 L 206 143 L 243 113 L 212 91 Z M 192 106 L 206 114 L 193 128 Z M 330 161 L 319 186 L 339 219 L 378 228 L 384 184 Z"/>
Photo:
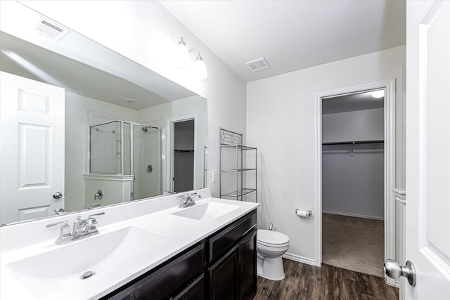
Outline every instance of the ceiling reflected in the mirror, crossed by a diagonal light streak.
<path fill-rule="evenodd" d="M 166 98 L 130 81 L 4 32 L 0 32 L 0 38 L 0 69 L 4 72 L 60 86 L 71 93 L 134 110 L 168 102 Z M 105 86 L 108 86 L 108 89 L 105 89 Z M 136 101 L 129 103 L 126 98 Z"/>

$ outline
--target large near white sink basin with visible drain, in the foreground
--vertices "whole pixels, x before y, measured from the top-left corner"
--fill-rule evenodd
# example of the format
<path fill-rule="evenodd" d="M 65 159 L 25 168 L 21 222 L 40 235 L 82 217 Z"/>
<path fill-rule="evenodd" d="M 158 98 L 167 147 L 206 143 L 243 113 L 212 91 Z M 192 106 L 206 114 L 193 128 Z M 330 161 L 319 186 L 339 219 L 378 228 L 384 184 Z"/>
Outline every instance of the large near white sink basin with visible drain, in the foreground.
<path fill-rule="evenodd" d="M 127 227 L 65 244 L 57 249 L 9 263 L 7 266 L 15 275 L 25 280 L 64 280 L 74 276 L 79 278 L 88 270 L 95 273 L 96 268 L 125 263 L 154 249 L 160 242 L 169 238 L 167 235 L 141 228 Z"/>

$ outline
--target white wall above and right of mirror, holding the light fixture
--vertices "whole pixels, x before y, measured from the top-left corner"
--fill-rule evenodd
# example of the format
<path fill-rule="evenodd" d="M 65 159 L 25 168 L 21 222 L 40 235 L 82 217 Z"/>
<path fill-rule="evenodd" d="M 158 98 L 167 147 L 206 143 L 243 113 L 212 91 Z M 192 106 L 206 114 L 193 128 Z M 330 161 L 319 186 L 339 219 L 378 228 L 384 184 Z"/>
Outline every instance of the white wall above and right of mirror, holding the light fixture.
<path fill-rule="evenodd" d="M 219 169 L 219 127 L 245 133 L 245 82 L 158 1 L 21 1 L 57 22 L 127 56 L 208 99 L 208 186 Z M 204 81 L 181 71 L 173 51 L 180 37 L 202 54 Z M 194 59 L 194 58 L 193 58 Z"/>

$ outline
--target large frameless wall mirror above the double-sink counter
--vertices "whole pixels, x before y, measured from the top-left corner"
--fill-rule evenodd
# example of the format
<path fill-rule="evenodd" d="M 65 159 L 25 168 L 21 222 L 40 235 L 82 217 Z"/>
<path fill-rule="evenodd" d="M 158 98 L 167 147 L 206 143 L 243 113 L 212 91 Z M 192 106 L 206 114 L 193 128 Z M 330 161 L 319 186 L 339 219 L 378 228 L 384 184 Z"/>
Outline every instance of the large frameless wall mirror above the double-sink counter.
<path fill-rule="evenodd" d="M 1 224 L 205 187 L 205 98 L 17 2 L 0 22 Z"/>

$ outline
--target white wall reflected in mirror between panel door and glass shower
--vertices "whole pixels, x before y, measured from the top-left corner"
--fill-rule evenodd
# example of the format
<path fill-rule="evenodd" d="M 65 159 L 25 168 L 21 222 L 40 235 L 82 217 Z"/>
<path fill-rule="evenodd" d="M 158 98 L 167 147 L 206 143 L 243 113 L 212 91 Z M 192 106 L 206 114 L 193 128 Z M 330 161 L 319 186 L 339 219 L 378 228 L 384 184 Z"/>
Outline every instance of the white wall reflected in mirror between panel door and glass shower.
<path fill-rule="evenodd" d="M 88 110 L 137 121 L 138 112 L 100 100 L 65 93 L 65 210 L 84 208 Z"/>

